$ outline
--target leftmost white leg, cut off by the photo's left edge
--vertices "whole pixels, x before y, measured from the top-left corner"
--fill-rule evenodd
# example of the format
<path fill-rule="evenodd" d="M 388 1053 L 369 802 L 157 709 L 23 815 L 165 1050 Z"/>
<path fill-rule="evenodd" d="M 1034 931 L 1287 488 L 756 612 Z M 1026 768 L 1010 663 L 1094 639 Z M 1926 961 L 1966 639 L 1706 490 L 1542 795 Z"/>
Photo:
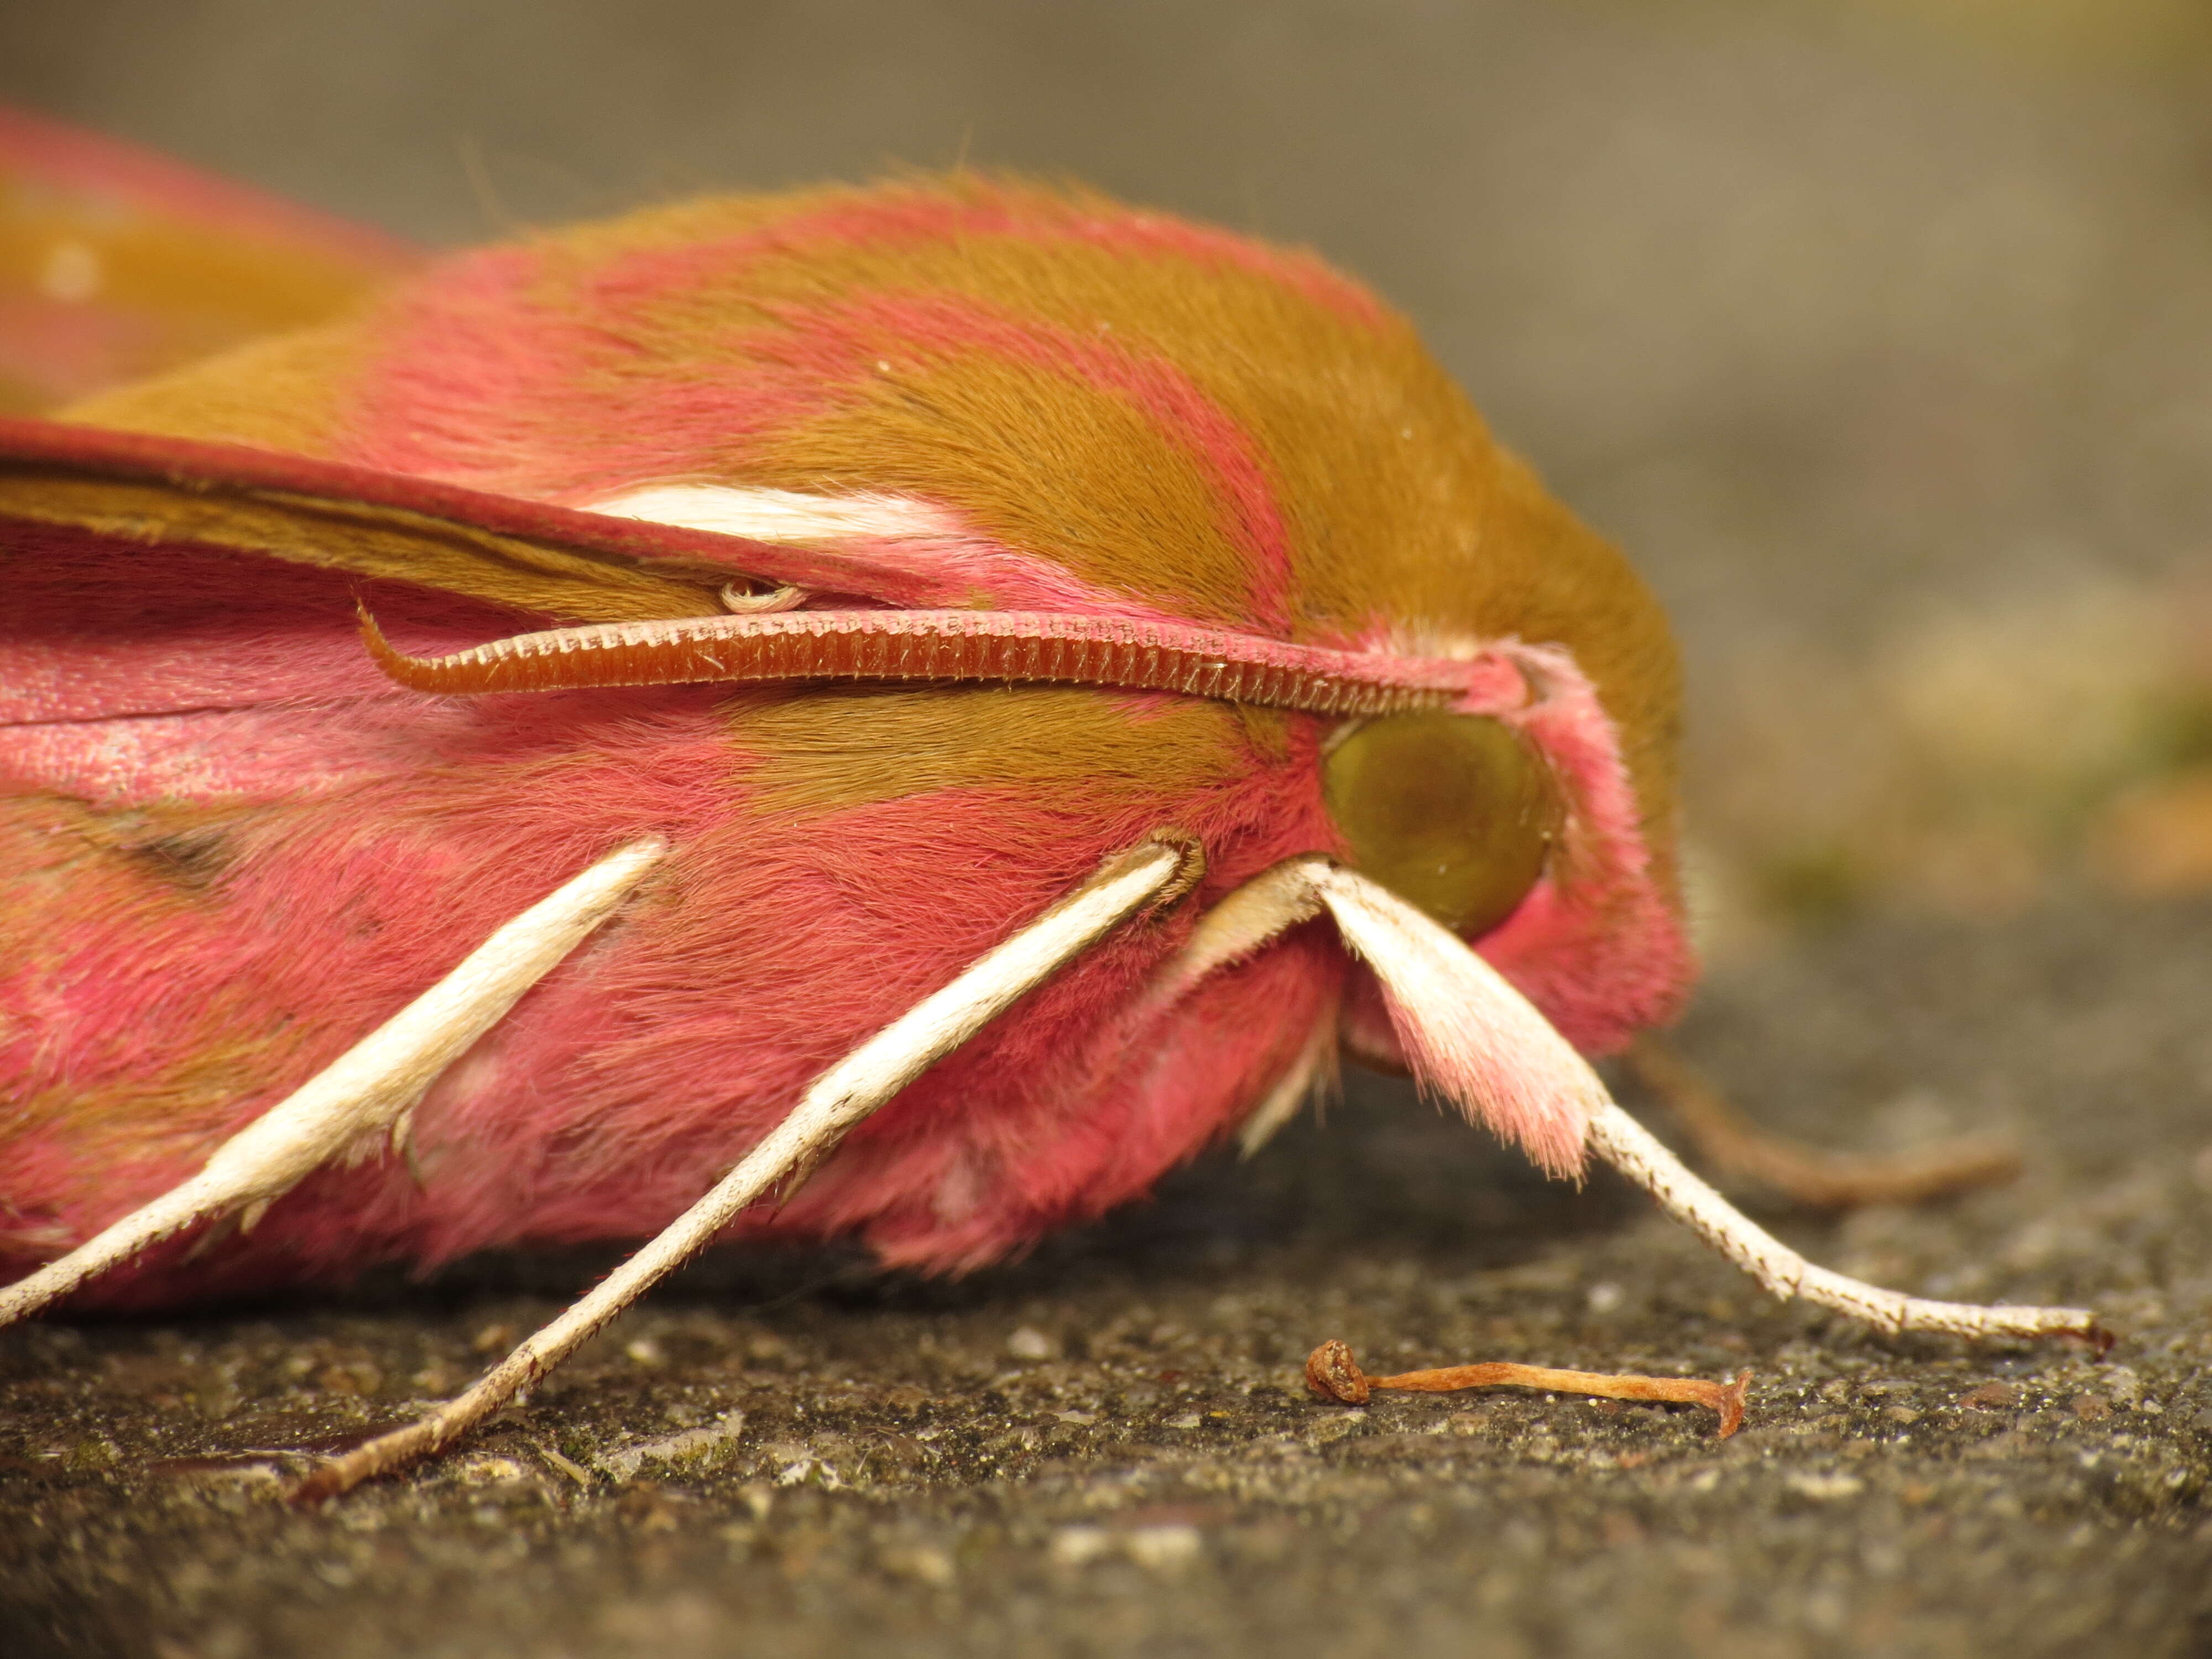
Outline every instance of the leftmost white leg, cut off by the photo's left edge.
<path fill-rule="evenodd" d="M 538 900 L 307 1084 L 223 1141 L 181 1186 L 0 1290 L 0 1325 L 186 1228 L 243 1212 L 246 1225 L 301 1177 L 365 1137 L 405 1133 L 422 1091 L 542 980 L 668 852 L 646 838 Z"/>

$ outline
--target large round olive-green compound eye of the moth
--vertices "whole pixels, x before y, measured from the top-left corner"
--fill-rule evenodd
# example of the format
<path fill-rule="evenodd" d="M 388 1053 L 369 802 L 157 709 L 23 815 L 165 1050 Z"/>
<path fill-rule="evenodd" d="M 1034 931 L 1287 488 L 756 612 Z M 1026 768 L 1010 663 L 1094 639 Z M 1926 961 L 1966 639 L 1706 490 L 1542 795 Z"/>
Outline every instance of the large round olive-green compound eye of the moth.
<path fill-rule="evenodd" d="M 1321 787 L 1360 874 L 1462 936 L 1513 914 L 1559 832 L 1551 770 L 1475 714 L 1367 721 L 1329 750 Z"/>

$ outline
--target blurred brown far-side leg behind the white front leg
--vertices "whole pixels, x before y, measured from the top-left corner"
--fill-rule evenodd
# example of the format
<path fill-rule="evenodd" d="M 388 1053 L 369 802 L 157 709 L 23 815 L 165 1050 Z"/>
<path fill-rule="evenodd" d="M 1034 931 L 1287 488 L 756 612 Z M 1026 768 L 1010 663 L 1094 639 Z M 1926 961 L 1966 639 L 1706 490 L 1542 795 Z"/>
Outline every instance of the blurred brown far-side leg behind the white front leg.
<path fill-rule="evenodd" d="M 1814 1210 L 1920 1203 L 2020 1175 L 2020 1152 L 1984 1135 L 1933 1141 L 1893 1157 L 1832 1152 L 1770 1135 L 1659 1035 L 1637 1040 L 1628 1051 L 1628 1068 L 1666 1102 L 1705 1164 Z"/>

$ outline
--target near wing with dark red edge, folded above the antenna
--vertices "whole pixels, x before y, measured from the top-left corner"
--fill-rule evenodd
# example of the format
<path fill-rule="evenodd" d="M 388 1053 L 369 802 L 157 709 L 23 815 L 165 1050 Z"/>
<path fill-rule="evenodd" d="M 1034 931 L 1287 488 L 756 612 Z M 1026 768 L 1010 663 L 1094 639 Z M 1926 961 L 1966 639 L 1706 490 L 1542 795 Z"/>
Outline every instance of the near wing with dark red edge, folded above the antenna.
<path fill-rule="evenodd" d="M 834 555 L 237 445 L 0 418 L 0 726 L 389 695 L 356 595 L 416 644 L 860 591 Z"/>

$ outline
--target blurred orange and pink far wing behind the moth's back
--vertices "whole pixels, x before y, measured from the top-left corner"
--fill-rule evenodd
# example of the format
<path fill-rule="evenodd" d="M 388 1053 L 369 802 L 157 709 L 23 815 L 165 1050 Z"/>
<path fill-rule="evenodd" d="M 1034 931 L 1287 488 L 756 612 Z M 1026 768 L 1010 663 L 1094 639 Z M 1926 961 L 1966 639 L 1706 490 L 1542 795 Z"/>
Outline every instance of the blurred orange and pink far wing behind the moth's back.
<path fill-rule="evenodd" d="M 321 323 L 418 261 L 396 237 L 0 108 L 0 414 Z"/>

